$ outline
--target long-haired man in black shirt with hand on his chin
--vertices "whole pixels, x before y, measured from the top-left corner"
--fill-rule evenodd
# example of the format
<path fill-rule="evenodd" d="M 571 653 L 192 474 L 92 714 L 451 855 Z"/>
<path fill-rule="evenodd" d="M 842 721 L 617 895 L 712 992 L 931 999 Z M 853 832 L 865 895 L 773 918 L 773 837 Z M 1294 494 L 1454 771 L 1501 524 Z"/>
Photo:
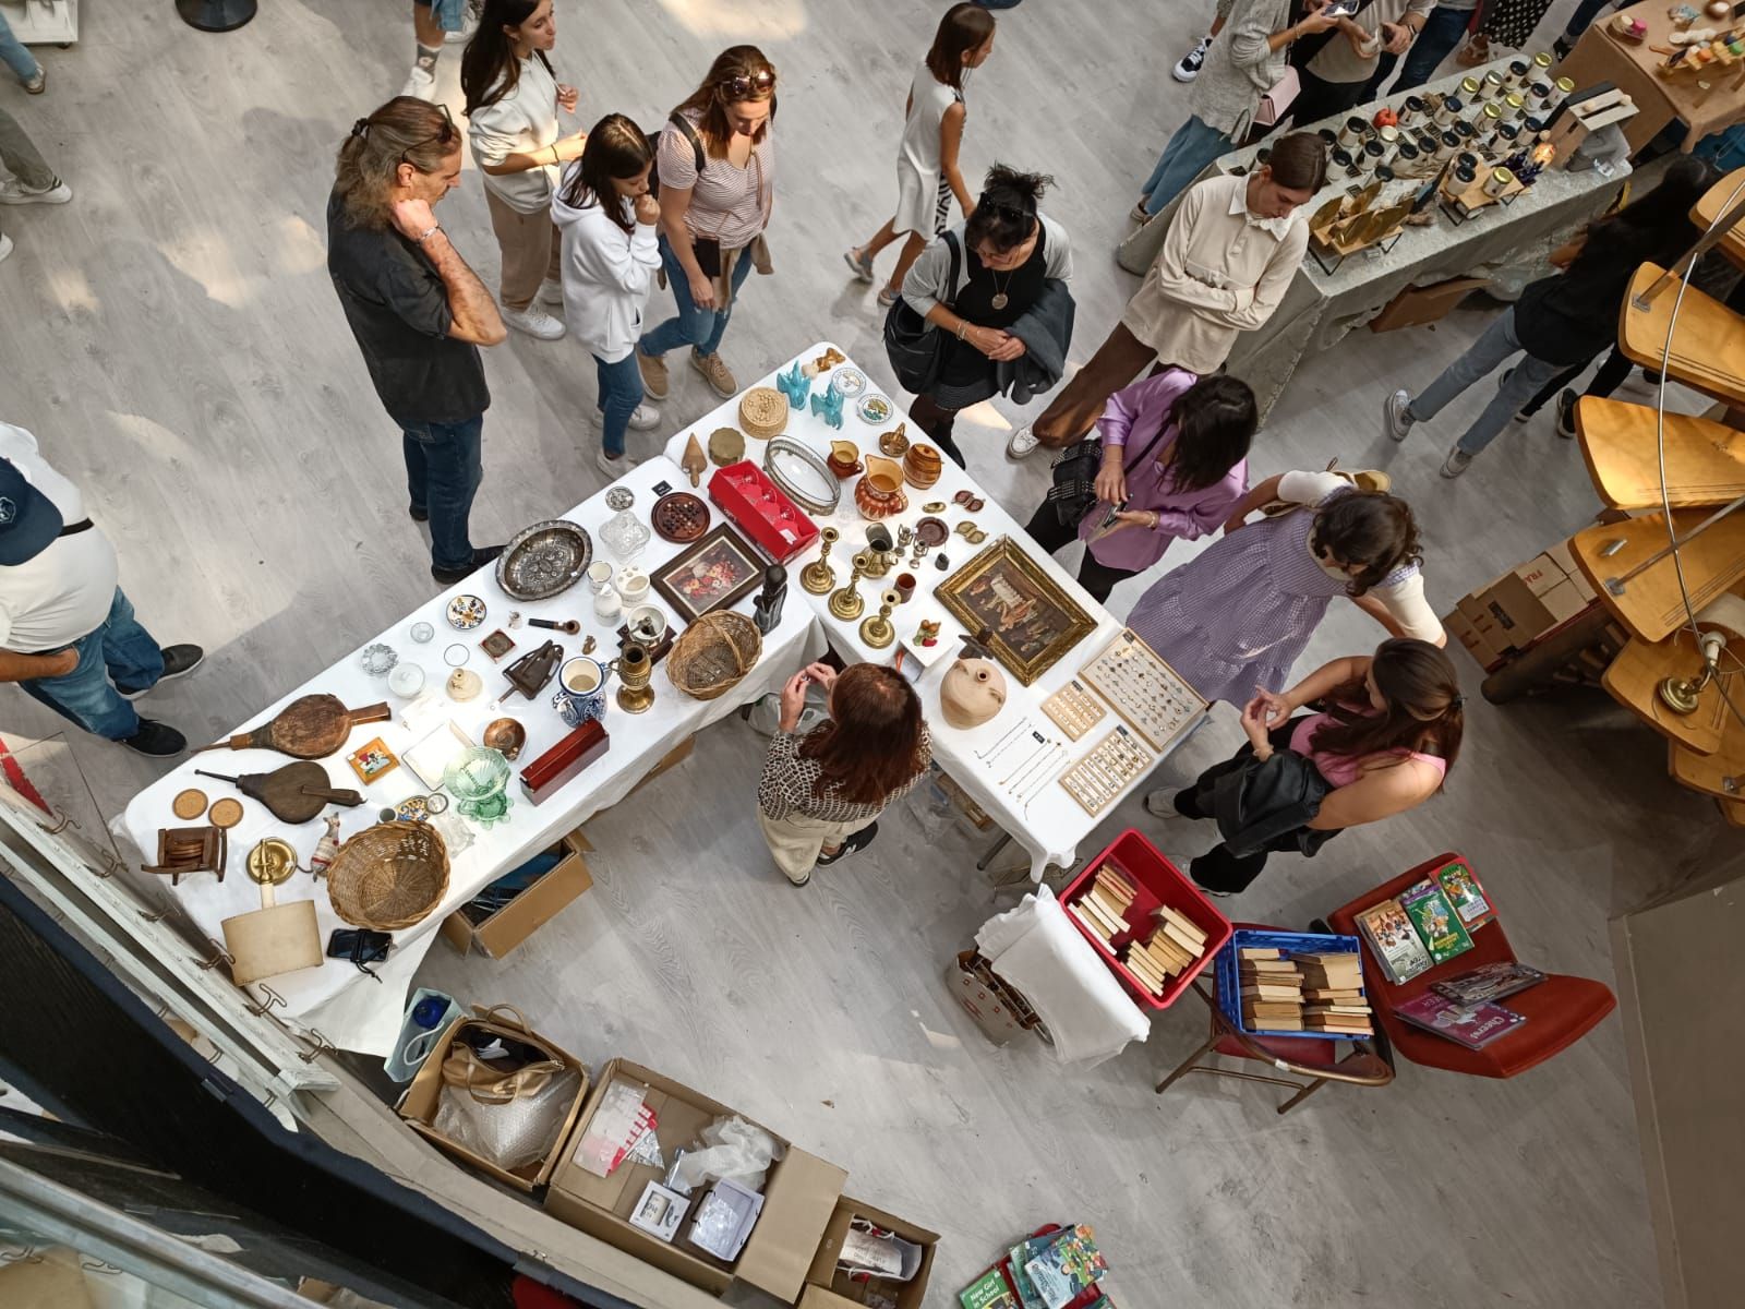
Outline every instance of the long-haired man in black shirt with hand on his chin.
<path fill-rule="evenodd" d="M 461 133 L 441 105 L 398 96 L 358 119 L 328 199 L 328 274 L 370 380 L 400 424 L 407 511 L 431 525 L 431 576 L 454 585 L 497 557 L 466 520 L 490 391 L 480 346 L 506 335 L 431 206 L 461 185 Z"/>

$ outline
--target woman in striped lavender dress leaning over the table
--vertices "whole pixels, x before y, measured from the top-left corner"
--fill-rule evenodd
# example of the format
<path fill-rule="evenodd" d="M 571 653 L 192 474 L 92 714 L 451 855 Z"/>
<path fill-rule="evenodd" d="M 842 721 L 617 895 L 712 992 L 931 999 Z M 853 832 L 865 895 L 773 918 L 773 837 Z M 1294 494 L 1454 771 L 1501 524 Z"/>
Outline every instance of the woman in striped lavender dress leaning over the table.
<path fill-rule="evenodd" d="M 1276 499 L 1295 511 L 1244 525 Z M 1398 496 L 1338 473 L 1281 473 L 1248 492 L 1223 539 L 1139 597 L 1131 627 L 1208 700 L 1246 705 L 1284 686 L 1335 595 L 1394 637 L 1447 642 L 1424 600 L 1417 525 Z"/>

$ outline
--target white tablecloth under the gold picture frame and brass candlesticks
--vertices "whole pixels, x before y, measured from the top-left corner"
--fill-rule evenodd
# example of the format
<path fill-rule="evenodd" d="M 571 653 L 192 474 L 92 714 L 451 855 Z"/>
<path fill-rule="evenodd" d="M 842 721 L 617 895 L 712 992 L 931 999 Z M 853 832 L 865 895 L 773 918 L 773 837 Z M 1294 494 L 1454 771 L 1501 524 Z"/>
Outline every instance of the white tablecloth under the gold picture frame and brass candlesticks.
<path fill-rule="evenodd" d="M 803 351 L 797 358 L 813 360 L 820 356 L 825 349 L 831 349 L 831 342 L 818 342 L 811 349 Z M 838 347 L 839 349 L 839 347 Z M 846 351 L 845 351 L 846 353 Z M 790 367 L 792 361 L 782 365 L 782 372 Z M 850 361 L 853 363 L 853 361 Z M 813 393 L 822 389 L 827 375 L 820 375 L 813 382 Z M 775 386 L 775 374 L 761 379 L 759 386 Z M 892 405 L 897 400 L 892 398 Z M 907 414 L 897 410 L 893 417 L 881 424 L 864 422 L 855 414 L 848 412 L 845 407 L 843 428 L 841 431 L 832 431 L 831 426 L 811 414 L 808 405 L 806 412 L 790 410 L 785 436 L 797 440 L 818 452 L 820 456 L 829 456 L 831 438 L 850 440 L 860 447 L 862 457 L 867 452 L 878 454 L 878 436 L 890 431 L 897 422 L 909 422 L 909 438 L 925 442 L 927 436 L 909 421 Z M 708 433 L 715 428 L 738 428 L 738 400 L 729 400 L 721 405 L 712 414 L 705 414 L 701 419 L 693 422 L 686 431 L 677 433 L 667 445 L 667 456 L 677 463 L 684 456 L 686 438 L 696 433 L 698 442 L 707 449 Z M 764 442 L 747 438 L 747 457 L 763 464 Z M 710 469 L 712 473 L 714 469 Z M 703 475 L 703 487 L 708 485 L 710 473 Z M 831 567 L 836 569 L 838 585 L 848 579 L 850 560 L 855 552 L 866 548 L 866 529 L 872 524 L 860 515 L 853 503 L 853 485 L 859 480 L 848 478 L 841 483 L 843 497 L 836 506 L 836 513 L 829 518 L 818 518 L 820 524 L 834 524 L 841 531 L 841 541 L 831 552 Z M 953 496 L 967 487 L 972 494 L 986 501 L 984 508 L 977 513 L 968 513 L 961 506 L 953 503 Z M 907 653 L 902 639 L 914 632 L 923 618 L 944 620 L 941 627 L 939 646 L 934 648 L 935 658 L 927 665 L 916 682 L 921 693 L 921 705 L 927 714 L 927 724 L 934 737 L 934 759 L 951 775 L 958 785 L 961 785 L 977 805 L 996 822 L 1003 831 L 1007 831 L 1014 840 L 1017 840 L 1024 850 L 1030 852 L 1031 876 L 1042 880 L 1042 871 L 1049 864 L 1059 864 L 1061 867 L 1070 867 L 1077 857 L 1078 843 L 1101 822 L 1103 815 L 1092 817 L 1075 801 L 1066 791 L 1057 784 L 1050 782 L 1030 798 L 1031 789 L 1026 787 L 1019 796 L 1014 796 L 1007 782 L 1012 777 L 1014 764 L 1023 759 L 1024 747 L 1007 747 L 1000 752 L 991 764 L 977 759 L 977 750 L 991 750 L 1005 735 L 1010 731 L 1019 719 L 1028 717 L 1030 724 L 1040 731 L 1049 740 L 1057 740 L 1066 745 L 1064 752 L 1056 752 L 1054 763 L 1049 764 L 1047 771 L 1050 775 L 1064 771 L 1064 768 L 1089 754 L 1103 737 L 1119 721 L 1113 714 L 1108 714 L 1098 726 L 1084 735 L 1078 742 L 1066 738 L 1054 721 L 1042 712 L 1042 702 L 1064 686 L 1092 654 L 1103 649 L 1120 630 L 1122 625 L 1108 613 L 1103 606 L 1092 600 L 1085 590 L 1071 578 L 1059 564 L 1056 564 L 1040 546 L 1024 536 L 1023 525 L 1014 520 L 1005 510 L 1002 510 L 995 501 L 982 492 L 979 485 L 958 468 L 949 459 L 944 461 L 944 471 L 927 490 L 916 490 L 914 487 L 904 487 L 904 494 L 909 497 L 909 506 L 902 513 L 885 518 L 883 522 L 895 534 L 897 527 L 902 524 L 914 525 L 914 522 L 923 515 L 921 506 L 930 501 L 944 501 L 946 510 L 939 515 L 951 525 L 951 539 L 935 550 L 930 550 L 921 560 L 921 567 L 916 571 L 916 592 L 914 599 L 907 604 L 897 607 L 892 621 L 897 623 L 897 644 L 886 649 L 872 649 L 860 641 L 860 623 L 862 620 L 874 613 L 878 606 L 879 593 L 888 588 L 897 572 L 906 571 L 907 555 L 904 555 L 904 567 L 892 569 L 892 572 L 881 579 L 862 579 L 860 595 L 866 607 L 860 618 L 852 623 L 843 623 L 834 614 L 831 614 L 827 595 L 811 595 L 799 585 L 799 569 L 818 557 L 818 546 L 811 546 L 790 564 L 792 585 L 789 586 L 789 607 L 796 606 L 796 600 L 804 600 L 810 604 L 811 611 L 817 614 L 818 621 L 829 635 L 831 644 L 850 661 L 874 661 L 874 663 L 892 663 L 902 654 L 904 661 L 913 660 Z M 974 518 L 974 522 L 988 532 L 988 539 L 974 546 L 965 538 L 956 534 L 956 525 L 965 518 Z M 1047 572 L 1054 578 L 1059 586 L 1078 602 L 1078 606 L 1096 620 L 1096 632 L 1080 641 L 1066 656 L 1049 668 L 1042 677 L 1038 677 L 1031 686 L 1019 686 L 1017 679 L 1010 674 L 1007 675 L 1007 702 L 1005 707 L 989 723 L 968 731 L 960 731 L 946 724 L 942 714 L 939 712 L 939 686 L 944 679 L 946 668 L 951 665 L 951 656 L 960 648 L 958 637 L 963 634 L 963 627 L 951 618 L 944 607 L 932 597 L 934 586 L 949 576 L 949 571 L 942 572 L 937 567 L 939 555 L 944 553 L 951 560 L 951 571 L 967 564 L 975 553 L 993 545 L 1002 534 L 1012 536 L 1023 541 L 1028 550 L 1026 553 L 1035 559 Z M 1181 733 L 1178 733 L 1176 742 L 1187 738 L 1190 723 Z M 1040 773 L 1038 773 L 1040 775 Z M 1016 780 L 1024 780 L 1023 777 Z M 1134 784 L 1136 785 L 1136 784 Z M 1126 796 L 1131 792 L 1122 794 Z M 1113 805 L 1110 806 L 1113 808 Z M 1108 810 L 1105 810 L 1106 813 Z"/>

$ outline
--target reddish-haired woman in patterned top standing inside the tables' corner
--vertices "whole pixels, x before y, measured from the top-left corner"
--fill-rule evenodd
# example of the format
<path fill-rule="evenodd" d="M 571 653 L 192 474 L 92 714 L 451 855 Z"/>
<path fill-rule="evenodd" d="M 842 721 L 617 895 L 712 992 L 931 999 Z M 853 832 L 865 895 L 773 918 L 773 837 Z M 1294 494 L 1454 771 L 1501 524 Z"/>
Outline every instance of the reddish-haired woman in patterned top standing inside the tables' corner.
<path fill-rule="evenodd" d="M 806 688 L 829 695 L 829 719 L 796 735 Z M 895 668 L 810 663 L 782 688 L 782 717 L 757 784 L 757 826 L 796 887 L 864 850 L 878 815 L 927 775 L 932 759 L 921 698 Z"/>

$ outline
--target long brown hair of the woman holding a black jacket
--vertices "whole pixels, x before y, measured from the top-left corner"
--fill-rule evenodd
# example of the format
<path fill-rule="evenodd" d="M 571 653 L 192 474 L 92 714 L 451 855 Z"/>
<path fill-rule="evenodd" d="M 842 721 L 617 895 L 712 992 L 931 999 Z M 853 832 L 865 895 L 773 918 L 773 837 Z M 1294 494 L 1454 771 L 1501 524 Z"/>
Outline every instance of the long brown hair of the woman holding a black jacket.
<path fill-rule="evenodd" d="M 1375 648 L 1370 677 L 1386 709 L 1377 714 L 1370 688 L 1358 677 L 1326 695 L 1331 723 L 1314 733 L 1317 752 L 1345 759 L 1375 759 L 1372 768 L 1401 763 L 1396 750 L 1434 754 L 1448 770 L 1461 756 L 1466 730 L 1466 696 L 1445 651 L 1427 641 L 1394 637 Z M 1361 709 L 1347 709 L 1361 705 Z"/>

